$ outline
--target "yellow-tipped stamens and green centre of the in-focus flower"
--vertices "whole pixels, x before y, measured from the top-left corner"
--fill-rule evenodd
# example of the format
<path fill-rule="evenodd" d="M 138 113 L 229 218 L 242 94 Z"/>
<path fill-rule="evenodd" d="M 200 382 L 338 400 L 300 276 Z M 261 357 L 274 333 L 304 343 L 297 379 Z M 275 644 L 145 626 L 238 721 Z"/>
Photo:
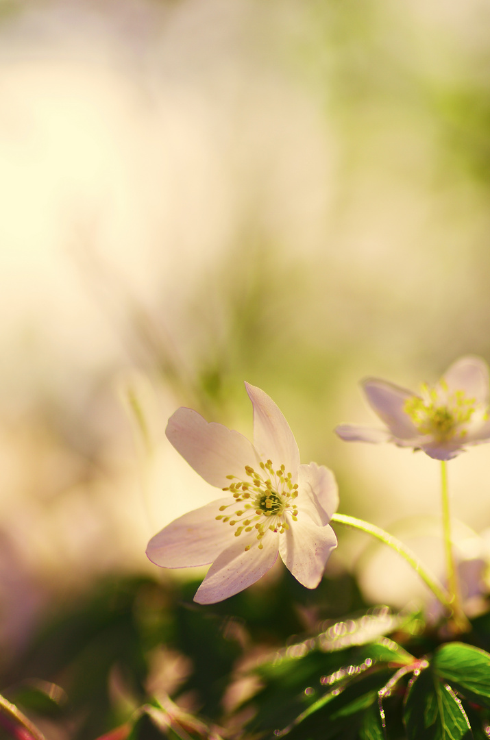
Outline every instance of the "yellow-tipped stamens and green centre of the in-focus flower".
<path fill-rule="evenodd" d="M 235 537 L 242 532 L 257 531 L 258 547 L 263 548 L 261 540 L 268 532 L 283 534 L 289 529 L 289 522 L 298 519 L 298 508 L 294 499 L 298 496 L 298 483 L 293 485 L 291 473 L 281 465 L 274 470 L 272 460 L 260 462 L 261 472 L 255 471 L 250 465 L 245 465 L 246 477 L 250 480 L 240 480 L 235 475 L 227 475 L 232 482 L 223 488 L 230 491 L 235 501 L 232 504 L 220 506 L 220 511 L 232 509 L 226 514 L 219 514 L 224 524 L 235 529 Z M 235 509 L 235 506 L 238 508 Z M 248 551 L 250 545 L 246 545 Z"/>

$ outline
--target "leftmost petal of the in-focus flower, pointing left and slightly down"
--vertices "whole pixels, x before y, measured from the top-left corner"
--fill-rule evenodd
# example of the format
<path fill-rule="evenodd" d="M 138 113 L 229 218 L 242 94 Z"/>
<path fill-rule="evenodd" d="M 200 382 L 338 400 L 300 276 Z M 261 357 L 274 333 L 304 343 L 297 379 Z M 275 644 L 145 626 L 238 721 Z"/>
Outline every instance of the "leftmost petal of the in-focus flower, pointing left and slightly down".
<path fill-rule="evenodd" d="M 221 505 L 235 504 L 228 497 L 212 501 L 170 522 L 150 539 L 147 556 L 161 568 L 192 568 L 207 565 L 223 552 L 233 539 L 226 522 L 217 520 Z"/>

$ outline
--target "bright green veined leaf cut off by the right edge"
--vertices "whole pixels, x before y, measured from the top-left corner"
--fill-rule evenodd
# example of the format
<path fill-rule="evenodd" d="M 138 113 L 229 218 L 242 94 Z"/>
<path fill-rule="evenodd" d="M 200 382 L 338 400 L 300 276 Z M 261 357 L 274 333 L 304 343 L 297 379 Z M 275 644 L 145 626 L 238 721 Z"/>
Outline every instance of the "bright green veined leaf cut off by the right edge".
<path fill-rule="evenodd" d="M 463 642 L 449 642 L 434 654 L 434 673 L 466 699 L 490 706 L 490 655 Z"/>

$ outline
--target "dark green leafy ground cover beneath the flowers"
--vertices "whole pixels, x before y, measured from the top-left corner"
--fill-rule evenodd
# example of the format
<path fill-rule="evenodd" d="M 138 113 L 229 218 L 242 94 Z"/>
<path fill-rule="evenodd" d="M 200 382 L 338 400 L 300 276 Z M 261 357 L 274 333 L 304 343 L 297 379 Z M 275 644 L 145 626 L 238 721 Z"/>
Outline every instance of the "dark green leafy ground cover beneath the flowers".
<path fill-rule="evenodd" d="M 58 608 L 2 676 L 4 694 L 48 739 L 55 728 L 74 740 L 485 736 L 490 654 L 474 644 L 489 641 L 487 614 L 466 642 L 446 642 L 444 621 L 366 611 L 345 576 L 317 591 L 291 585 L 284 573 L 267 599 L 256 586 L 205 608 L 191 601 L 197 584 L 107 580 Z M 349 590 L 351 618 L 338 622 L 336 596 Z M 162 648 L 161 667 L 186 660 L 170 684 L 152 676 Z"/>

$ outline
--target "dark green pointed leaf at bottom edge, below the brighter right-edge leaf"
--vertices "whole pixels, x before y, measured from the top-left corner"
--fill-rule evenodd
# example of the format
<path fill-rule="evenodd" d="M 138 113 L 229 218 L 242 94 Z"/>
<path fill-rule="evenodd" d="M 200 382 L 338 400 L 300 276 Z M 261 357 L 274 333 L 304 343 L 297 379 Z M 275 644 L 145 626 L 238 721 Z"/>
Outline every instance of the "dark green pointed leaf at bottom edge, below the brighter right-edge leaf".
<path fill-rule="evenodd" d="M 409 740 L 469 740 L 471 727 L 461 702 L 447 684 L 426 668 L 412 679 L 404 721 Z"/>

